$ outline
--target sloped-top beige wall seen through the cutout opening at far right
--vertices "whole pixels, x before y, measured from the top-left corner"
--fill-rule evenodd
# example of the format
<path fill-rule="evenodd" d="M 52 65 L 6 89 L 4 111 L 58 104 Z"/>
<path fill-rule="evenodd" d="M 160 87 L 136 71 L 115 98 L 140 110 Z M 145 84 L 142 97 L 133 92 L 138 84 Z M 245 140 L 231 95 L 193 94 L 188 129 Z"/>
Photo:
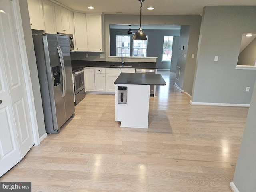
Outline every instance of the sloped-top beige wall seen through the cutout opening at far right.
<path fill-rule="evenodd" d="M 238 65 L 255 65 L 256 60 L 256 38 L 239 54 Z"/>

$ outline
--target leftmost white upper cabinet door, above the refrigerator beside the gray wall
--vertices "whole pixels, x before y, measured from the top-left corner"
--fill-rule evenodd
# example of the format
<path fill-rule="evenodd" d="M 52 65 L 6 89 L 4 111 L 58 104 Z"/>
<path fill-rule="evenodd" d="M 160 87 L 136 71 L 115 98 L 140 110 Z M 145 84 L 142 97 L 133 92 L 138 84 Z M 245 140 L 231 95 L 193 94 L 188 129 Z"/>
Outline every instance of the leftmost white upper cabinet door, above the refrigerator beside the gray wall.
<path fill-rule="evenodd" d="M 42 0 L 28 0 L 31 29 L 45 30 Z"/>

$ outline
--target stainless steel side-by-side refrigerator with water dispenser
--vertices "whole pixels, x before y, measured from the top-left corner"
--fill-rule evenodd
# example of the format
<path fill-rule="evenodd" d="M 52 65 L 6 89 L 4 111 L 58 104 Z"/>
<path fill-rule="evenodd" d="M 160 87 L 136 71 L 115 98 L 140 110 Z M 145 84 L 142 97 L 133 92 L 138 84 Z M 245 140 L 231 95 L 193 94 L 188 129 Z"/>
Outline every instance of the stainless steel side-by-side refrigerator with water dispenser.
<path fill-rule="evenodd" d="M 58 133 L 74 116 L 74 93 L 69 37 L 33 35 L 47 133 Z"/>

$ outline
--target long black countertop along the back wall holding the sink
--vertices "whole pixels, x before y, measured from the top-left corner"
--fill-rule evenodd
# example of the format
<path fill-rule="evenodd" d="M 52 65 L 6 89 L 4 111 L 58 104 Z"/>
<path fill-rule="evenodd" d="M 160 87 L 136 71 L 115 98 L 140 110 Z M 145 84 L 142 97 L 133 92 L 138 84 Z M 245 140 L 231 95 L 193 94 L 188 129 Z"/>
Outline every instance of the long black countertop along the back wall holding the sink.
<path fill-rule="evenodd" d="M 82 61 L 82 60 L 72 60 L 72 72 L 84 68 L 84 67 L 104 67 L 104 68 L 120 68 L 121 62 L 111 62 L 111 61 Z M 150 62 L 125 62 L 124 68 L 137 68 L 137 69 L 157 69 L 156 63 Z M 115 67 L 113 67 L 115 66 Z"/>

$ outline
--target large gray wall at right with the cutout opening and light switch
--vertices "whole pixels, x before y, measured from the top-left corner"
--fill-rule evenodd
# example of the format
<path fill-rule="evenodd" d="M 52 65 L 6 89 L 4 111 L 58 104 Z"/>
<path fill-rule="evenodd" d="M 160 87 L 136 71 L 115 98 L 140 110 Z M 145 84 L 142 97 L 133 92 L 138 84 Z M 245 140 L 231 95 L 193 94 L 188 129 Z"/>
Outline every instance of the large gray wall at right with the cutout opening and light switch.
<path fill-rule="evenodd" d="M 206 6 L 192 102 L 250 104 L 256 70 L 236 70 L 243 33 L 256 33 L 256 6 Z M 218 56 L 218 62 L 214 62 Z M 249 92 L 245 92 L 246 87 Z"/>

